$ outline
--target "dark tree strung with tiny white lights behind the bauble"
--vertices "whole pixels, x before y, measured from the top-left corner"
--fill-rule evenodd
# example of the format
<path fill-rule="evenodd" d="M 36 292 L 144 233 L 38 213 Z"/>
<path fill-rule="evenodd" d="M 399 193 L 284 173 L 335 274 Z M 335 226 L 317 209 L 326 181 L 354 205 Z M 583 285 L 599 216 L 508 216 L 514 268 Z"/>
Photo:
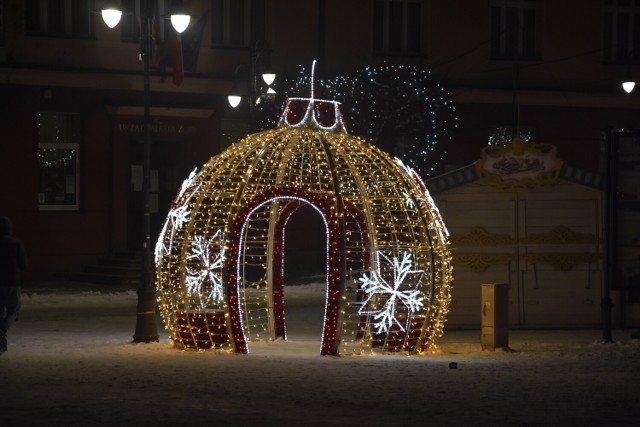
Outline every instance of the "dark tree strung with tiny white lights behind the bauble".
<path fill-rule="evenodd" d="M 309 72 L 280 86 L 282 99 L 309 91 Z M 400 158 L 423 177 L 432 175 L 446 152 L 456 127 L 449 93 L 433 81 L 431 72 L 410 65 L 383 64 L 353 74 L 316 78 L 318 98 L 342 102 L 349 132 Z M 263 129 L 273 128 L 282 103 L 259 105 Z"/>

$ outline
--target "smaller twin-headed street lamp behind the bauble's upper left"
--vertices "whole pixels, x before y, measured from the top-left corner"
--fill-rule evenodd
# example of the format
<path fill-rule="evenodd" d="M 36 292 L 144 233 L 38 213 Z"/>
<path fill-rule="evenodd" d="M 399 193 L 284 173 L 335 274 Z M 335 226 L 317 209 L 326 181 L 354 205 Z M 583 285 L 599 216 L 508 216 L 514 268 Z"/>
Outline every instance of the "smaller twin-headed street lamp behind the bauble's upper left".
<path fill-rule="evenodd" d="M 276 74 L 271 70 L 269 66 L 269 60 L 263 60 L 263 56 L 268 55 L 269 50 L 266 47 L 266 43 L 258 42 L 254 46 L 251 52 L 251 75 L 248 78 L 249 84 L 249 109 L 251 111 L 251 115 L 253 116 L 256 105 L 261 102 L 263 98 L 272 99 L 276 95 L 276 91 L 271 87 L 273 82 L 276 79 Z M 264 61 L 265 65 L 262 68 L 262 81 L 267 85 L 267 90 L 264 94 L 260 93 L 260 83 L 258 81 L 258 68 L 261 65 L 261 62 Z M 233 88 L 231 89 L 231 93 L 227 97 L 229 101 L 229 105 L 232 108 L 236 108 L 240 102 L 242 101 L 242 94 L 238 90 L 238 75 L 242 72 L 242 70 L 246 68 L 244 65 L 238 65 L 236 67 Z"/>

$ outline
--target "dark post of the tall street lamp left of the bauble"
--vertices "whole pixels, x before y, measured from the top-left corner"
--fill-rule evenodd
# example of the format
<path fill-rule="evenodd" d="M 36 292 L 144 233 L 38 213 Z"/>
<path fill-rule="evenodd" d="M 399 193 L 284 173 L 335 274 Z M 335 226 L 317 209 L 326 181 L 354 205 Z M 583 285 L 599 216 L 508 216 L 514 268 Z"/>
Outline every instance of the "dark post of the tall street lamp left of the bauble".
<path fill-rule="evenodd" d="M 138 308 L 134 342 L 158 341 L 158 328 L 155 318 L 155 289 L 153 280 L 153 258 L 151 253 L 151 89 L 149 78 L 149 54 L 151 52 L 151 9 L 149 0 L 142 2 L 141 8 L 141 55 L 144 63 L 144 162 L 143 162 L 143 198 L 144 198 L 144 241 L 142 260 L 142 283 L 138 289 Z"/>

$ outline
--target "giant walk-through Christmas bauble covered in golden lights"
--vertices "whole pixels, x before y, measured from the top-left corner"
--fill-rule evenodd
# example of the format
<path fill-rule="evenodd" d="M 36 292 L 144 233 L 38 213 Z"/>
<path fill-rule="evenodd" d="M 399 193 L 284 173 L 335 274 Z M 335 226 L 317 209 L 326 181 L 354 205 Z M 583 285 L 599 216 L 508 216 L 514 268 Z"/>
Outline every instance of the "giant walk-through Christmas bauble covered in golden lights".
<path fill-rule="evenodd" d="M 300 207 L 326 228 L 321 354 L 427 352 L 443 332 L 448 234 L 420 177 L 350 136 L 340 104 L 290 99 L 182 184 L 155 250 L 158 301 L 183 349 L 247 353 L 286 338 L 284 233 Z"/>

